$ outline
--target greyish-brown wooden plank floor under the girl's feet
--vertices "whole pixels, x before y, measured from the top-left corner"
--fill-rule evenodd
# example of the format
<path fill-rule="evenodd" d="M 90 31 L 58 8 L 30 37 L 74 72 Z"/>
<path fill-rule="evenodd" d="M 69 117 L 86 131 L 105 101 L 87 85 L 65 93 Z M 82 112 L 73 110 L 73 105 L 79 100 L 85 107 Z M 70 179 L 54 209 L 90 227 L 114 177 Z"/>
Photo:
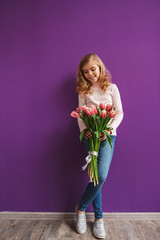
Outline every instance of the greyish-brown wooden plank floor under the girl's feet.
<path fill-rule="evenodd" d="M 0 217 L 0 240 L 90 240 L 93 220 L 87 232 L 78 234 L 75 219 L 26 219 Z M 160 240 L 160 219 L 105 219 L 107 240 Z"/>

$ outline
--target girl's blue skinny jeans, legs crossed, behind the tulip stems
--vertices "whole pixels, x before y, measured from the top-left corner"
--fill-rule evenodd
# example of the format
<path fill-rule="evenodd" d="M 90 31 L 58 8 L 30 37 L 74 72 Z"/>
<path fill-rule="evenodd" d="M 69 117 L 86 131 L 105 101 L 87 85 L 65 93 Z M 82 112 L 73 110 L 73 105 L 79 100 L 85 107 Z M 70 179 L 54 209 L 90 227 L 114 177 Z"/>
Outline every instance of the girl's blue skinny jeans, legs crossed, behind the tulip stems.
<path fill-rule="evenodd" d="M 112 138 L 112 148 L 109 145 L 108 141 L 106 146 L 104 146 L 105 141 L 102 141 L 100 144 L 100 149 L 99 149 L 98 159 L 97 159 L 99 184 L 94 186 L 93 182 L 88 183 L 86 190 L 81 198 L 81 201 L 79 202 L 79 207 L 78 207 L 80 211 L 85 211 L 86 208 L 90 205 L 90 203 L 92 203 L 96 219 L 103 218 L 101 188 L 104 182 L 106 181 L 106 178 L 108 175 L 109 167 L 112 161 L 116 136 L 111 135 L 111 138 Z M 89 141 L 84 137 L 83 137 L 83 144 L 84 144 L 86 155 L 88 155 Z"/>

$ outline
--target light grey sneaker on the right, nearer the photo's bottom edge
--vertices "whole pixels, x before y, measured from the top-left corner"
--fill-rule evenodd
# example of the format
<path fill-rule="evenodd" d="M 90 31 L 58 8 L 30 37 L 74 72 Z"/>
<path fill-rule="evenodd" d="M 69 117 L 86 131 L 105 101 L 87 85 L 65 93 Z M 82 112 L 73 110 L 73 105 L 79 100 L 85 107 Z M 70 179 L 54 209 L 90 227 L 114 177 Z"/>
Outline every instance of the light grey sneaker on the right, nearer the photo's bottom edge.
<path fill-rule="evenodd" d="M 94 223 L 93 223 L 93 234 L 97 238 L 105 238 L 106 232 L 105 232 L 105 228 L 104 228 L 103 219 L 99 219 L 97 221 L 94 221 Z"/>

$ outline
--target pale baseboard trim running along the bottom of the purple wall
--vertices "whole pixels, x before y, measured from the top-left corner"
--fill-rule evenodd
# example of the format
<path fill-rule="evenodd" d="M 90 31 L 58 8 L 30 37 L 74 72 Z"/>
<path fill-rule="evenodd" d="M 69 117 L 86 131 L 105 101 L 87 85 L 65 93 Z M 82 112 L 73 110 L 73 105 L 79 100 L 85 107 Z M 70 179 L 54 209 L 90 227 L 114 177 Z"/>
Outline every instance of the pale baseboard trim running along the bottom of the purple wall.
<path fill-rule="evenodd" d="M 105 220 L 160 220 L 160 212 L 103 213 Z M 93 213 L 86 213 L 87 219 L 94 219 Z M 0 212 L 0 219 L 69 220 L 75 219 L 73 212 Z"/>

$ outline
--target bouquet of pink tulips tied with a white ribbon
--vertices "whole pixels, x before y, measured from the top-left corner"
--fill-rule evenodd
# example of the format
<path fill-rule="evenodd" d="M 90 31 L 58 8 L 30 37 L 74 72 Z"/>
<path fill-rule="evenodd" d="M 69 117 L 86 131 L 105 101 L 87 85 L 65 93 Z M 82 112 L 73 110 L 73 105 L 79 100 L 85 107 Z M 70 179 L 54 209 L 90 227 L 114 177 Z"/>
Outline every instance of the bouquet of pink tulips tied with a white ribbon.
<path fill-rule="evenodd" d="M 82 167 L 83 170 L 88 166 L 88 175 L 90 182 L 94 182 L 94 186 L 98 184 L 98 168 L 97 168 L 97 157 L 100 147 L 100 132 L 106 135 L 106 143 L 109 142 L 112 147 L 112 139 L 108 134 L 107 130 L 112 130 L 108 127 L 108 123 L 115 116 L 115 109 L 111 105 L 105 106 L 100 103 L 98 107 L 91 105 L 79 106 L 76 111 L 71 113 L 74 118 L 80 118 L 86 125 L 86 128 L 80 133 L 80 141 L 84 136 L 85 131 L 90 130 L 92 137 L 89 139 L 90 151 L 86 157 L 86 165 Z"/>

